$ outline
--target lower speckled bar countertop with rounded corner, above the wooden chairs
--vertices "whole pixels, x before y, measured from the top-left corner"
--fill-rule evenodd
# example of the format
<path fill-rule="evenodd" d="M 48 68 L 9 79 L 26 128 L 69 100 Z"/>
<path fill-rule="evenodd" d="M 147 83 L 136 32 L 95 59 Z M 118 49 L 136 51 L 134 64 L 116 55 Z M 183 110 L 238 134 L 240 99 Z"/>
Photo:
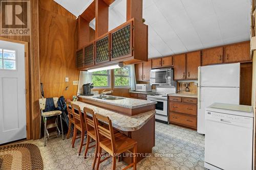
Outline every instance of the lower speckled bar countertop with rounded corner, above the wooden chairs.
<path fill-rule="evenodd" d="M 79 101 L 72 103 L 79 105 L 81 112 L 83 112 L 83 107 L 88 107 L 93 109 L 95 113 L 108 116 L 112 121 L 113 127 L 122 131 L 136 131 L 140 129 L 156 113 L 156 110 L 151 110 L 137 115 L 129 116 Z"/>

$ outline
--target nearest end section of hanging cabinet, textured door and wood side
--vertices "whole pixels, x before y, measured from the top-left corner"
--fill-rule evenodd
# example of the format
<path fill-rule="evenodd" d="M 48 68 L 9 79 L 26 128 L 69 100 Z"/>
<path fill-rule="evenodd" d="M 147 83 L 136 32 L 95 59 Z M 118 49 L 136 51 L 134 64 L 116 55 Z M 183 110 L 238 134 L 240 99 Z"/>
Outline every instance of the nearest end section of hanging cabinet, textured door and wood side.
<path fill-rule="evenodd" d="M 134 18 L 110 31 L 111 61 L 147 61 L 147 26 Z"/>

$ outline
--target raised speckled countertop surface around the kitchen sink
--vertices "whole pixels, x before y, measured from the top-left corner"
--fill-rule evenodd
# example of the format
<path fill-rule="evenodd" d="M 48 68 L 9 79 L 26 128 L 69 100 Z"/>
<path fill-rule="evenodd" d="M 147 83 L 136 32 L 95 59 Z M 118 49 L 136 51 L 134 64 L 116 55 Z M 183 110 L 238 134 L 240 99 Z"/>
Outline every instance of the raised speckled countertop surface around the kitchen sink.
<path fill-rule="evenodd" d="M 115 106 L 119 106 L 119 107 L 129 108 L 129 109 L 135 109 L 135 108 L 140 108 L 140 107 L 144 107 L 144 106 L 155 105 L 157 103 L 157 102 L 151 102 L 151 101 L 140 100 L 140 99 L 132 99 L 132 98 L 124 98 L 121 100 L 113 100 L 113 101 L 112 100 L 103 100 L 103 99 L 94 98 L 96 96 L 99 96 L 99 95 L 92 95 L 92 96 L 79 95 L 78 97 L 96 101 L 96 102 L 106 103 L 109 105 L 115 105 Z M 116 96 L 116 97 L 118 97 L 118 96 Z M 123 97 L 121 97 L 121 98 L 123 98 Z"/>

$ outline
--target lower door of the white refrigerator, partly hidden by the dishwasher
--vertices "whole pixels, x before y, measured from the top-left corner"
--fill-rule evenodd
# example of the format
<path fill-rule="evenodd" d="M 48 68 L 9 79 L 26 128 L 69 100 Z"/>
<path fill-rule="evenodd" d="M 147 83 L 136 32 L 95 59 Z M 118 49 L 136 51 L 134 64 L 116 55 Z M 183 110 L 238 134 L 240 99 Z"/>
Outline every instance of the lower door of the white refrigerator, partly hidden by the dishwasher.
<path fill-rule="evenodd" d="M 198 87 L 197 132 L 205 134 L 205 109 L 213 103 L 239 105 L 239 88 Z"/>

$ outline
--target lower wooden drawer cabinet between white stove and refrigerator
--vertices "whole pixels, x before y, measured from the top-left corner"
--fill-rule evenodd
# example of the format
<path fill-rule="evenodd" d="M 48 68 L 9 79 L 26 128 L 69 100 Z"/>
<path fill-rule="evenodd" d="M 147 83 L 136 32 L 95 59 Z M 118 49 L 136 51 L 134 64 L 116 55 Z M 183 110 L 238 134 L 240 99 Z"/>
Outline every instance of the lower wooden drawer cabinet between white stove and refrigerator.
<path fill-rule="evenodd" d="M 197 129 L 197 99 L 169 96 L 169 121 Z"/>

